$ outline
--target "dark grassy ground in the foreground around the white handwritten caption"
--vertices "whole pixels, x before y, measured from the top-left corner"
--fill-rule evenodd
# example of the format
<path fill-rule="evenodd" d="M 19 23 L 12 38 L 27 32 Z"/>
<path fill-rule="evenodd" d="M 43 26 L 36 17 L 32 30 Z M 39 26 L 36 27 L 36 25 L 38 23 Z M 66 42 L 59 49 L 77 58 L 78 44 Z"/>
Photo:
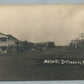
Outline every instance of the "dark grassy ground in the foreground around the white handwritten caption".
<path fill-rule="evenodd" d="M 52 48 L 45 51 L 27 51 L 16 56 L 0 56 L 0 80 L 84 79 L 84 66 L 41 65 L 41 60 L 46 58 L 84 59 L 84 50 Z"/>

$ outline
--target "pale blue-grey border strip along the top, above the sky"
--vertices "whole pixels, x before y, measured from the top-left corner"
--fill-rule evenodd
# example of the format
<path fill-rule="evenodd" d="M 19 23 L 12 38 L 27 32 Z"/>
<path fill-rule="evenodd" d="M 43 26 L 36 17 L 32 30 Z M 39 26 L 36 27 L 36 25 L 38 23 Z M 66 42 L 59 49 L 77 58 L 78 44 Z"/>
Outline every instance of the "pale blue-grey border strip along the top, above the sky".
<path fill-rule="evenodd" d="M 0 4 L 83 4 L 84 0 L 0 0 Z"/>

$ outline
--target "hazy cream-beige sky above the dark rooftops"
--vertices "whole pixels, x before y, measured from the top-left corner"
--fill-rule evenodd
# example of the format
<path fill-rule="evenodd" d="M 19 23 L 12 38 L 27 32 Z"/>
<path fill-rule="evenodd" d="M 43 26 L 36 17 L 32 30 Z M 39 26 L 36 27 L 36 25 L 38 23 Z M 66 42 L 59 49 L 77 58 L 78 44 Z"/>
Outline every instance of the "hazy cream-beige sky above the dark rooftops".
<path fill-rule="evenodd" d="M 67 45 L 84 32 L 84 5 L 0 5 L 0 32 Z"/>

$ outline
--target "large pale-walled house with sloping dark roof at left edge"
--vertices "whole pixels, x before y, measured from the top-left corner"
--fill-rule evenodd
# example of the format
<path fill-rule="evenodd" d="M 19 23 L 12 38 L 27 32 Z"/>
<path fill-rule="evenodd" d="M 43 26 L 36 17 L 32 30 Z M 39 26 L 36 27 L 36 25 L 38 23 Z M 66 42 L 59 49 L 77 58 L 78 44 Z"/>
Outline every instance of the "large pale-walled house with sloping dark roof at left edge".
<path fill-rule="evenodd" d="M 9 48 L 14 48 L 19 40 L 12 35 L 0 33 L 0 53 L 7 53 Z"/>

